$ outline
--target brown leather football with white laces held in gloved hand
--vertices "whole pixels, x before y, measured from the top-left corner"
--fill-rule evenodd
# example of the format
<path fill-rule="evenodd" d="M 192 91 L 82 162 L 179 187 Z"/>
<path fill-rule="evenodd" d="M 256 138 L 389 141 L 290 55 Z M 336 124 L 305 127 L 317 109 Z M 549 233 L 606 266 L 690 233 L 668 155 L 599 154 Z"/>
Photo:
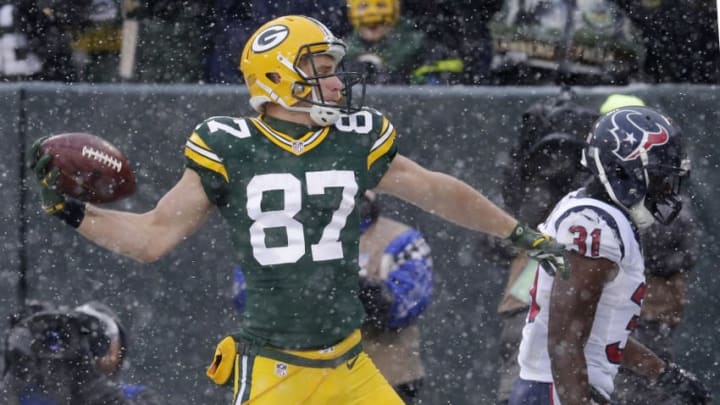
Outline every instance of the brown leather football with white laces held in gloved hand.
<path fill-rule="evenodd" d="M 50 155 L 48 171 L 60 170 L 60 192 L 78 200 L 102 204 L 135 192 L 130 162 L 110 142 L 88 133 L 73 132 L 48 137 L 40 155 Z"/>

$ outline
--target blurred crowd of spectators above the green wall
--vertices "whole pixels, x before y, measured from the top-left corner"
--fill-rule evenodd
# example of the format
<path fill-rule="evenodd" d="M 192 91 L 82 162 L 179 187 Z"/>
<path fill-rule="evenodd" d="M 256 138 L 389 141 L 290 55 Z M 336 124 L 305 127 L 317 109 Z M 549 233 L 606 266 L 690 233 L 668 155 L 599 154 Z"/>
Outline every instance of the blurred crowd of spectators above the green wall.
<path fill-rule="evenodd" d="M 242 82 L 279 15 L 325 23 L 370 84 L 718 83 L 711 0 L 0 1 L 4 81 Z"/>

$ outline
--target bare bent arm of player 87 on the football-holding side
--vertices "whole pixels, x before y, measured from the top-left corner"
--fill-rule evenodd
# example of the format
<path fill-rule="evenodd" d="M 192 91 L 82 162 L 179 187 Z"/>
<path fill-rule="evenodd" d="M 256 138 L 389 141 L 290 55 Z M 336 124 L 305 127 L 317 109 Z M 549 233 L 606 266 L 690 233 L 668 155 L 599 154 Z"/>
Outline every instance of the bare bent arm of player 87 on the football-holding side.
<path fill-rule="evenodd" d="M 136 214 L 88 204 L 78 231 L 115 253 L 152 262 L 205 223 L 210 208 L 200 176 L 186 169 L 180 181 L 151 211 Z"/>

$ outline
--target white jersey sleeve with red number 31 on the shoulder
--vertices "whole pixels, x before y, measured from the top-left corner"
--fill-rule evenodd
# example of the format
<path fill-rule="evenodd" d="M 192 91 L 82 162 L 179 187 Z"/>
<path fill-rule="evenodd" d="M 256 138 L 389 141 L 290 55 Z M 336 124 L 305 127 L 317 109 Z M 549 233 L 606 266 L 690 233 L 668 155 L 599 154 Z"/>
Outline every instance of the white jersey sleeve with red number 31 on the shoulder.
<path fill-rule="evenodd" d="M 625 256 L 623 225 L 630 226 L 599 207 L 575 207 L 556 221 L 556 239 L 582 256 L 619 263 Z"/>

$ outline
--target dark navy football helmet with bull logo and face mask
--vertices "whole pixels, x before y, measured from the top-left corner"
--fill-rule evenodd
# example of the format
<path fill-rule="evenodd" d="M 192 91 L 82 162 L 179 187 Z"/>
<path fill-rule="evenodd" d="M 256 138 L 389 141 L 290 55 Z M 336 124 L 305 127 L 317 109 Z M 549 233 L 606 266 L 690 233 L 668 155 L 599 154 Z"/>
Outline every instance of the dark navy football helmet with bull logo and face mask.
<path fill-rule="evenodd" d="M 682 134 L 664 115 L 625 107 L 598 119 L 582 164 L 611 200 L 640 228 L 670 223 L 682 209 L 682 179 L 689 173 Z"/>

